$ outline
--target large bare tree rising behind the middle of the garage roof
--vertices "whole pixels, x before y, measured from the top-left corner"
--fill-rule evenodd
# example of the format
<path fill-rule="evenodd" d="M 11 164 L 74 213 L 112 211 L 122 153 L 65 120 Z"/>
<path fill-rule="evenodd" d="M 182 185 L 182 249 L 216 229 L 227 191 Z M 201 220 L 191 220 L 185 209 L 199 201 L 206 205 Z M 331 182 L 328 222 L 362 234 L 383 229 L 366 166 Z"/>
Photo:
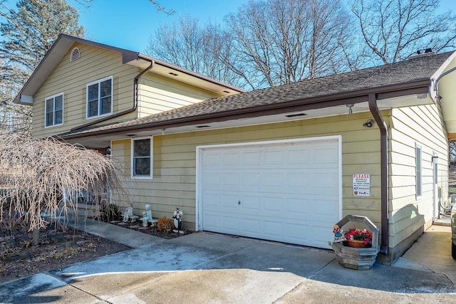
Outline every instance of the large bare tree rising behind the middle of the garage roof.
<path fill-rule="evenodd" d="M 341 1 L 249 1 L 225 21 L 236 59 L 227 62 L 252 88 L 293 83 L 349 68 L 343 46 L 351 20 Z"/>

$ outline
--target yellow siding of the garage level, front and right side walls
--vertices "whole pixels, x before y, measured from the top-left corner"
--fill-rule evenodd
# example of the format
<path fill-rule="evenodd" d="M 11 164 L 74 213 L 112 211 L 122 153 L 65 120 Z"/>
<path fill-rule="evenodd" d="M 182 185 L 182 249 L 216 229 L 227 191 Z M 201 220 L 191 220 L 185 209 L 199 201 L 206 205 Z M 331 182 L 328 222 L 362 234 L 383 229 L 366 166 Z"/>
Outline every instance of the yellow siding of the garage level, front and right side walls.
<path fill-rule="evenodd" d="M 432 152 L 439 154 L 439 182 L 447 193 L 447 142 L 442 135 L 441 115 L 434 105 L 382 111 L 389 129 L 390 247 L 423 228 L 432 219 Z M 176 206 L 184 212 L 188 229 L 195 229 L 196 147 L 235 142 L 258 142 L 301 137 L 342 136 L 343 216 L 361 214 L 381 226 L 380 132 L 363 123 L 370 113 L 296 120 L 249 127 L 201 130 L 153 138 L 153 179 L 128 182 L 140 214 L 152 203 L 155 217 L 172 215 Z M 443 133 L 445 134 L 445 133 Z M 423 196 L 415 196 L 415 143 L 423 147 Z M 125 150 L 130 168 L 130 140 L 113 142 Z M 126 171 L 125 171 L 126 172 Z M 371 196 L 353 196 L 352 174 L 371 174 Z M 127 179 L 130 179 L 127 172 Z"/>

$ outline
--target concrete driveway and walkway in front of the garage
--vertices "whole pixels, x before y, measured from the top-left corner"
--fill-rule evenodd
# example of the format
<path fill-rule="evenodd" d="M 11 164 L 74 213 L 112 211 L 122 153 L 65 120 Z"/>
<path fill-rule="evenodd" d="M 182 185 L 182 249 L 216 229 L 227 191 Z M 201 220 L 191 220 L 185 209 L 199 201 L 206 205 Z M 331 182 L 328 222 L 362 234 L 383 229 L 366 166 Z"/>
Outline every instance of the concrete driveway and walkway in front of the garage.
<path fill-rule="evenodd" d="M 432 226 L 395 266 L 369 271 L 343 268 L 332 251 L 283 243 L 205 232 L 164 240 L 93 221 L 78 227 L 135 248 L 4 283 L 0 302 L 456 303 L 449 227 Z"/>

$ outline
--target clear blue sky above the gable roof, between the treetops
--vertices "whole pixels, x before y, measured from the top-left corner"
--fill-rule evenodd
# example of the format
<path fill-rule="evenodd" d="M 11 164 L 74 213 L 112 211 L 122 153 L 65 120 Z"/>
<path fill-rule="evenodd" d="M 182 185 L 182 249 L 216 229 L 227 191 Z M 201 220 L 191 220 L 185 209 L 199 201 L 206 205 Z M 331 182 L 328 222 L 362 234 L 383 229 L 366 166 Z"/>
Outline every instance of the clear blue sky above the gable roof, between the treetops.
<path fill-rule="evenodd" d="M 175 22 L 190 14 L 205 23 L 211 19 L 222 23 L 223 16 L 237 11 L 248 0 L 158 0 L 161 6 L 176 11 L 172 16 L 157 12 L 149 0 L 93 0 L 89 9 L 76 1 L 70 3 L 80 11 L 80 23 L 87 38 L 131 51 L 145 53 L 152 34 L 162 23 Z"/>

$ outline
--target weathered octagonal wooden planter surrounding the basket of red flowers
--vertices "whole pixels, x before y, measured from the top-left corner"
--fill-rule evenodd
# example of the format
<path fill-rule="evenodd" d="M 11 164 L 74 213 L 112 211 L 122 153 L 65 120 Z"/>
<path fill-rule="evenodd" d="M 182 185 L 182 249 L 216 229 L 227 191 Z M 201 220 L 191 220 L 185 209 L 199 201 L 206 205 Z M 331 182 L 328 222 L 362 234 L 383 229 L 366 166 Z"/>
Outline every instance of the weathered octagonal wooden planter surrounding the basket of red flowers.
<path fill-rule="evenodd" d="M 362 222 L 368 231 L 372 233 L 372 247 L 371 248 L 353 248 L 344 246 L 343 243 L 332 243 L 331 247 L 336 253 L 337 261 L 339 264 L 346 268 L 356 270 L 371 269 L 375 263 L 375 258 L 380 251 L 378 246 L 378 234 L 380 229 L 373 224 L 366 216 L 348 215 L 337 223 L 339 227 L 348 224 L 349 222 Z"/>

